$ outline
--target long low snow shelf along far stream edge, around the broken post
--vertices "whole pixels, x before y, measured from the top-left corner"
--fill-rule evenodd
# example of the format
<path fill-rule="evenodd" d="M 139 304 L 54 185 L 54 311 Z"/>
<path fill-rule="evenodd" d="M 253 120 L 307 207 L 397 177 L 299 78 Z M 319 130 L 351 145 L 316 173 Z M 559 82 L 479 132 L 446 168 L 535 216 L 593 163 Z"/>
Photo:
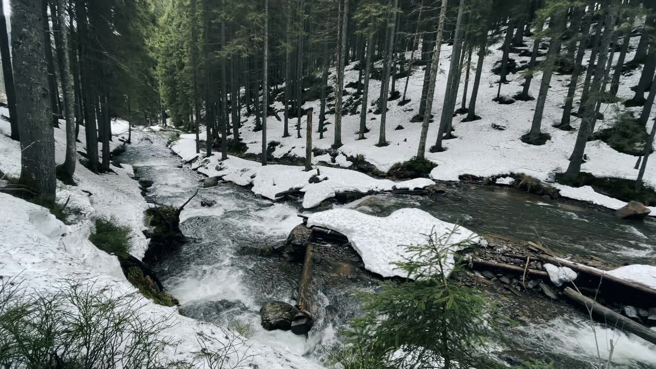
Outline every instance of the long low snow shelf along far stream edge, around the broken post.
<path fill-rule="evenodd" d="M 185 162 L 197 158 L 195 153 L 195 135 L 181 135 L 180 140 L 171 144 L 171 149 Z M 299 190 L 304 193 L 303 207 L 308 209 L 316 207 L 323 200 L 335 197 L 339 192 L 383 192 L 394 189 L 417 190 L 434 185 L 435 182 L 427 178 L 411 179 L 409 181 L 394 182 L 389 179 L 375 179 L 369 175 L 333 167 L 314 166 L 314 170 L 305 171 L 303 167 L 295 165 L 266 165 L 258 162 L 229 156 L 227 160 L 220 161 L 219 155 L 197 160 L 192 165 L 194 169 L 208 177 L 222 177 L 240 186 L 253 185 L 253 192 L 270 200 L 280 198 L 277 194 L 290 190 Z M 345 160 L 345 159 L 344 159 Z M 346 165 L 346 164 L 344 164 Z M 310 183 L 310 179 L 319 183 Z"/>

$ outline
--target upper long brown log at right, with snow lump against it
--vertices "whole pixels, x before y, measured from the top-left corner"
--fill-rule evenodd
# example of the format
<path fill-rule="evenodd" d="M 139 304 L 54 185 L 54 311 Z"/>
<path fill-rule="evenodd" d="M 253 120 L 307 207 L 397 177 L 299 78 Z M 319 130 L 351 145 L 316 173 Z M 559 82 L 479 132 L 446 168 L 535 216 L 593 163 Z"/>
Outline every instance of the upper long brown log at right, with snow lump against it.
<path fill-rule="evenodd" d="M 526 255 L 516 255 L 513 253 L 504 253 L 503 255 L 505 257 L 511 257 L 513 259 L 520 259 L 520 260 L 527 259 Z M 656 301 L 656 290 L 653 290 L 642 284 L 636 282 L 630 282 L 622 278 L 617 278 L 616 276 L 611 276 L 610 274 L 605 274 L 602 271 L 597 271 L 595 269 L 584 267 L 583 265 L 577 265 L 575 263 L 569 263 L 568 261 L 562 261 L 560 259 L 556 259 L 555 257 L 550 257 L 547 255 L 537 255 L 533 257 L 540 259 L 541 261 L 546 263 L 551 263 L 553 265 L 560 265 L 561 267 L 568 267 L 573 271 L 579 272 L 580 274 L 582 274 L 582 276 L 584 276 L 584 278 L 589 279 L 589 283 L 591 284 L 599 284 L 601 280 L 602 282 L 608 284 L 615 284 L 615 285 L 622 286 L 623 288 L 625 288 L 625 292 L 627 292 L 626 289 L 629 289 L 630 291 L 628 292 L 632 295 L 632 297 L 637 297 L 636 296 L 636 292 L 637 292 L 637 294 L 639 294 L 642 297 L 649 298 L 651 299 L 651 301 Z"/>

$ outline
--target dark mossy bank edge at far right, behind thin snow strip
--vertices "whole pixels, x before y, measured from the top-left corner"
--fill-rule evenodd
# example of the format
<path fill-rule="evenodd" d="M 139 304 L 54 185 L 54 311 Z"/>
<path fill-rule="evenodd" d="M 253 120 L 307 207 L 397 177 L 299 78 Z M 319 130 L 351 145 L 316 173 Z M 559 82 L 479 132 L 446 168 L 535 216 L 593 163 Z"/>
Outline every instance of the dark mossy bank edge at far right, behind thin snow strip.
<path fill-rule="evenodd" d="M 558 173 L 556 175 L 556 181 L 562 185 L 573 187 L 591 186 L 596 192 L 611 196 L 612 198 L 626 202 L 638 201 L 646 206 L 656 206 L 656 192 L 646 187 L 636 191 L 636 183 L 631 179 L 595 177 L 590 173 L 581 172 L 573 181 L 565 179 L 564 173 Z"/>

